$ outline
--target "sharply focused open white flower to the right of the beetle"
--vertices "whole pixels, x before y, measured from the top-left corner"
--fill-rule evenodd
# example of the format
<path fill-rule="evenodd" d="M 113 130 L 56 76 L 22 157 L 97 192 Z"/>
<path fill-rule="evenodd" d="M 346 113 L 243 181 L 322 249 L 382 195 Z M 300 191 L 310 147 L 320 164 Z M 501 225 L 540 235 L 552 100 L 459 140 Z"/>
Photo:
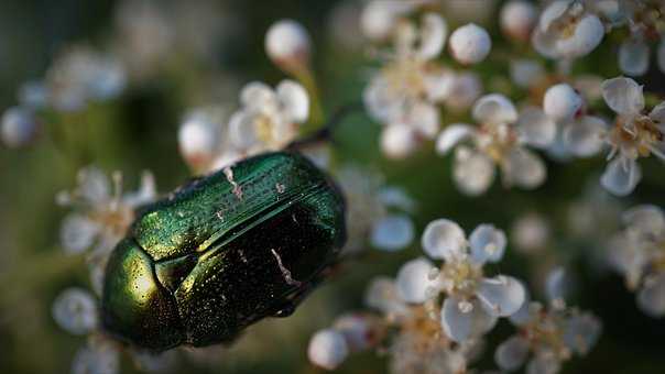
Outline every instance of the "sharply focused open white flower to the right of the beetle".
<path fill-rule="evenodd" d="M 429 275 L 428 284 L 421 284 L 430 288 L 424 295 L 429 299 L 437 292 L 446 295 L 440 318 L 451 340 L 479 337 L 498 317 L 511 316 L 522 307 L 525 290 L 517 279 L 483 275 L 482 266 L 499 262 L 505 250 L 505 234 L 493 226 L 479 226 L 467 241 L 457 223 L 435 220 L 423 233 L 423 250 L 432 258 L 444 261 L 440 270 Z"/>

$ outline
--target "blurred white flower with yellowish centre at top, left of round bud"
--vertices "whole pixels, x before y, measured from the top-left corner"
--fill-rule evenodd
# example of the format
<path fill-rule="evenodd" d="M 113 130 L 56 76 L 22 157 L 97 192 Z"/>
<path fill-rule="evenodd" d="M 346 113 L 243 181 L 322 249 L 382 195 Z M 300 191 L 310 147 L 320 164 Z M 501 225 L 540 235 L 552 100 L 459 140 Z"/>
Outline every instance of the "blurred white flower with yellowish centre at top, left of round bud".
<path fill-rule="evenodd" d="M 446 22 L 435 13 L 425 13 L 419 26 L 400 23 L 394 55 L 363 91 L 369 114 L 388 125 L 385 132 L 390 133 L 382 136 L 382 146 L 389 156 L 410 154 L 423 139 L 432 139 L 438 131 L 435 105 L 450 94 L 451 75 L 434 58 L 440 54 L 446 36 Z"/>

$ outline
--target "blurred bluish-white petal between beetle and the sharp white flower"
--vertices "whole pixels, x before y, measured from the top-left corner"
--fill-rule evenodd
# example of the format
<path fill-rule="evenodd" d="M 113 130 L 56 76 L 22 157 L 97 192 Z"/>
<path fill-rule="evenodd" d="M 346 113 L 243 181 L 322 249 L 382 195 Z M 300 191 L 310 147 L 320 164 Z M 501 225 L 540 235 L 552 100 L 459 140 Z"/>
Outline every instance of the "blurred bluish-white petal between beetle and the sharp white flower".
<path fill-rule="evenodd" d="M 374 223 L 371 234 L 372 246 L 384 251 L 399 251 L 413 241 L 413 221 L 406 215 L 392 215 Z"/>

